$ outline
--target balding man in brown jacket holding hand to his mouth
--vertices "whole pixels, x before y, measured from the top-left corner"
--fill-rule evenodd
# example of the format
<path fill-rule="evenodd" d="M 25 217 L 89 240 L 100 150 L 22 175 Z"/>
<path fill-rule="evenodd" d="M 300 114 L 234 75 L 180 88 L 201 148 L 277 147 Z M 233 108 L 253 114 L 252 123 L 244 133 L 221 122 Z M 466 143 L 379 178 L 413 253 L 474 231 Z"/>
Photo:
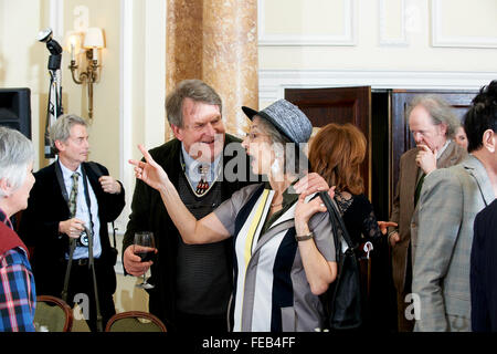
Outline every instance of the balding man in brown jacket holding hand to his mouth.
<path fill-rule="evenodd" d="M 435 95 L 416 96 L 408 111 L 409 129 L 416 147 L 401 156 L 399 181 L 390 220 L 399 225 L 390 228 L 392 247 L 392 275 L 396 289 L 398 326 L 400 332 L 411 332 L 414 321 L 405 316 L 410 305 L 413 254 L 417 241 L 416 202 L 423 179 L 436 168 L 458 164 L 466 150 L 452 140 L 459 125 L 451 106 Z"/>

